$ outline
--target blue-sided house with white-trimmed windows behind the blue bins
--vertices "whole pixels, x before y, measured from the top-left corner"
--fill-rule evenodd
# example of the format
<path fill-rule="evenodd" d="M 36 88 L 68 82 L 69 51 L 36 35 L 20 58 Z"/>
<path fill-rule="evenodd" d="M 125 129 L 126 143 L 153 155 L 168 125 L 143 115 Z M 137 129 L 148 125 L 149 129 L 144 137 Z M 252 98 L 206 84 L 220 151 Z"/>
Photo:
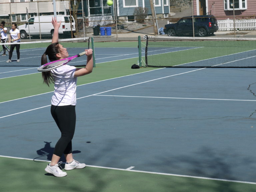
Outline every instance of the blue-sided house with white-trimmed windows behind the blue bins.
<path fill-rule="evenodd" d="M 168 0 L 153 0 L 157 18 L 167 18 L 170 13 Z M 116 5 L 115 5 L 116 3 Z M 115 19 L 122 22 L 134 22 L 134 10 L 138 7 L 147 8 L 148 18 L 152 18 L 150 0 L 114 0 L 112 6 L 107 5 L 107 0 L 83 0 L 83 10 L 89 25 L 104 25 L 114 22 Z M 114 10 L 116 7 L 116 11 Z M 81 4 L 80 4 L 80 10 Z M 95 21 L 95 22 L 93 22 Z"/>

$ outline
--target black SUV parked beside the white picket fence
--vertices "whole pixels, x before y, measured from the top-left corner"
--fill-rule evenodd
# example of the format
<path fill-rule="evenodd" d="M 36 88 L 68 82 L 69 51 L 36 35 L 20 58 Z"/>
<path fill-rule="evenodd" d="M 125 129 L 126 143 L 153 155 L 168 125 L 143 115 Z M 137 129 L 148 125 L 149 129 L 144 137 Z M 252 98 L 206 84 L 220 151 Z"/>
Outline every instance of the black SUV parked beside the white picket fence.
<path fill-rule="evenodd" d="M 195 15 L 193 20 L 195 35 L 200 37 L 213 35 L 219 29 L 217 19 L 213 15 Z M 165 25 L 164 33 L 168 36 L 193 35 L 192 16 L 182 17 L 177 23 Z"/>

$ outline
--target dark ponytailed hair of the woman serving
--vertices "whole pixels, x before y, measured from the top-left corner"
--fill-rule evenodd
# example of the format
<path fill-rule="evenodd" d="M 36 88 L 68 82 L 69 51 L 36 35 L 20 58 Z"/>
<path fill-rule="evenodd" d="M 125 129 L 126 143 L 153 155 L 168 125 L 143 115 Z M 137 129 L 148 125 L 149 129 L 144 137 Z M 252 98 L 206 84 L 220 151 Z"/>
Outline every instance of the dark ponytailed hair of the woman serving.
<path fill-rule="evenodd" d="M 47 55 L 50 61 L 56 61 L 59 57 L 56 56 L 59 53 L 59 43 L 52 43 L 47 48 L 44 54 L 41 57 L 41 65 L 48 63 Z M 52 76 L 51 71 L 42 72 L 43 82 L 50 86 L 51 83 L 54 83 L 54 78 Z"/>

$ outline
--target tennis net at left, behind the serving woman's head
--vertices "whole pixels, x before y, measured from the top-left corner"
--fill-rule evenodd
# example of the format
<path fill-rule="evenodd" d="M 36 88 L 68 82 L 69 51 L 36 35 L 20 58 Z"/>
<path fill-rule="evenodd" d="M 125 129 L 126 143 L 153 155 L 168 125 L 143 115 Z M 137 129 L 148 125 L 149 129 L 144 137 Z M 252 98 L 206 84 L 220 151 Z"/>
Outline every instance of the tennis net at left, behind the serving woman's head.
<path fill-rule="evenodd" d="M 51 44 L 51 40 L 47 41 L 33 41 L 33 42 L 20 42 L 20 43 L 1 43 L 0 45 L 6 45 L 10 49 L 10 45 L 20 44 L 20 62 L 17 62 L 16 48 L 14 48 L 12 54 L 12 62 L 7 63 L 9 59 L 9 53 L 6 50 L 6 55 L 3 55 L 3 47 L 0 46 L 0 66 L 41 66 L 41 57 L 45 52 L 48 45 Z M 84 52 L 90 46 L 89 37 L 83 38 L 72 38 L 72 39 L 59 39 L 59 43 L 67 48 L 69 56 L 77 55 Z M 73 61 L 69 62 L 72 66 L 85 66 L 87 57 L 78 57 Z M 48 57 L 47 57 L 48 59 Z M 48 62 L 49 59 L 48 59 Z"/>

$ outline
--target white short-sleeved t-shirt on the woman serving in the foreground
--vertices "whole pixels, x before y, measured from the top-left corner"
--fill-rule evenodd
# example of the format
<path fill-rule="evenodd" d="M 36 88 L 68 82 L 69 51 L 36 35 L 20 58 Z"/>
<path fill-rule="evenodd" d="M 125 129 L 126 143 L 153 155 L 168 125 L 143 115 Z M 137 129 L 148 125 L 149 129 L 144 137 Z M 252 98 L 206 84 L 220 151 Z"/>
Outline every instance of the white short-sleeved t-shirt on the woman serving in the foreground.
<path fill-rule="evenodd" d="M 53 69 L 54 94 L 51 103 L 55 106 L 76 105 L 76 67 L 63 65 Z"/>

